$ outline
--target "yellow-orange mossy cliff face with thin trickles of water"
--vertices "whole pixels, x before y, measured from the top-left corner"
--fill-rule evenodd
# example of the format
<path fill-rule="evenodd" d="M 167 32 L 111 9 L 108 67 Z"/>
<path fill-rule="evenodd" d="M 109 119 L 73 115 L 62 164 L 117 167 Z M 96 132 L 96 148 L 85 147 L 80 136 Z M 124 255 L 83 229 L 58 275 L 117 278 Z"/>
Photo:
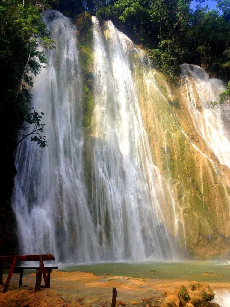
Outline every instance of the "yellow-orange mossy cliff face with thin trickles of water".
<path fill-rule="evenodd" d="M 159 73 L 148 74 L 152 75 L 148 76 L 148 82 L 146 75 L 136 79 L 142 116 L 153 161 L 174 193 L 179 244 L 197 257 L 227 256 L 230 251 L 229 168 L 220 164 L 194 126 L 184 76 L 180 87 L 171 88 Z M 153 81 L 149 82 L 150 79 Z M 189 82 L 196 112 L 202 115 L 196 80 L 189 77 Z M 172 221 L 167 220 L 167 224 L 172 230 Z"/>

